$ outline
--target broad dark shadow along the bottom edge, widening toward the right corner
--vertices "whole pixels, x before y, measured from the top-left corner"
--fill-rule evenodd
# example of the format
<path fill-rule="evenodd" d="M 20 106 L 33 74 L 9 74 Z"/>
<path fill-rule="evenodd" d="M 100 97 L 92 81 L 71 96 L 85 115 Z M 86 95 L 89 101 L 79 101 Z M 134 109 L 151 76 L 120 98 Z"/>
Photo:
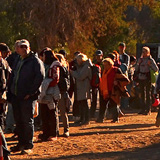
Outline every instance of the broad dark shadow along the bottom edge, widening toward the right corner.
<path fill-rule="evenodd" d="M 79 155 L 38 158 L 35 160 L 159 160 L 160 142 L 145 148 L 138 148 L 134 151 L 83 153 Z M 22 159 L 19 159 L 22 160 Z M 24 160 L 24 159 L 23 159 Z M 26 159 L 27 160 L 27 159 Z"/>

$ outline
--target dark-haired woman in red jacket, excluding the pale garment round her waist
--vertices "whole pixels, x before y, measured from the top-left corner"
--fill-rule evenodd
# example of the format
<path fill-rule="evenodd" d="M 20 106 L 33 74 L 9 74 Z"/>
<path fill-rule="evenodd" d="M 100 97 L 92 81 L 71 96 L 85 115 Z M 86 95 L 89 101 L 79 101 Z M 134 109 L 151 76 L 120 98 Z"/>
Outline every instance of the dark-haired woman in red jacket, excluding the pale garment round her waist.
<path fill-rule="evenodd" d="M 59 82 L 59 67 L 61 66 L 54 52 L 49 50 L 43 53 L 43 62 L 45 66 L 45 78 L 50 78 L 48 88 L 54 87 Z M 58 120 L 58 101 L 53 99 L 53 107 L 48 107 L 47 104 L 41 103 L 41 118 L 43 134 L 38 136 L 39 139 L 46 141 L 57 140 L 59 134 L 59 120 Z"/>

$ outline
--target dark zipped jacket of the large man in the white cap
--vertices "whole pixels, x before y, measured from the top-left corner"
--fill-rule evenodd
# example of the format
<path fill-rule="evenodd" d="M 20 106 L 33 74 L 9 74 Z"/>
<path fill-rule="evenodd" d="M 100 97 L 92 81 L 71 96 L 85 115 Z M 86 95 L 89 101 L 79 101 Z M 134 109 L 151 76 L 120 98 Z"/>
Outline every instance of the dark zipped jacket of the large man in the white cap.
<path fill-rule="evenodd" d="M 30 95 L 34 100 L 38 98 L 40 86 L 45 76 L 43 62 L 36 54 L 30 52 L 28 57 L 17 57 L 12 70 L 9 91 L 19 99 Z"/>

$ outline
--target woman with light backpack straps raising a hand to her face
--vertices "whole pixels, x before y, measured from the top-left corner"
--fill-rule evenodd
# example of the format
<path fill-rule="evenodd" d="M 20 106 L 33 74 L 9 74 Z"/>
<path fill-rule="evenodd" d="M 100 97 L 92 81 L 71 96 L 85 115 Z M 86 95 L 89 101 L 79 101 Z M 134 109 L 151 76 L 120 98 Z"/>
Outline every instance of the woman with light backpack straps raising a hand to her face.
<path fill-rule="evenodd" d="M 158 66 L 150 54 L 150 49 L 143 47 L 142 55 L 136 65 L 140 98 L 142 100 L 142 108 L 139 114 L 149 115 L 151 113 L 151 69 L 156 72 L 158 71 Z"/>

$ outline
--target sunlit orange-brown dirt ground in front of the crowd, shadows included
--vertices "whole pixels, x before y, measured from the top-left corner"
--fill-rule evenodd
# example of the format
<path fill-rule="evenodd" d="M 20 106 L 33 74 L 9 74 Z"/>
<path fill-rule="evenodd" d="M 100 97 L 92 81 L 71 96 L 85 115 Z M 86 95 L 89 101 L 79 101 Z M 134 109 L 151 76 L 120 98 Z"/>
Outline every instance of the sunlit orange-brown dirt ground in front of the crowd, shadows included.
<path fill-rule="evenodd" d="M 128 113 L 119 123 L 91 121 L 75 127 L 70 122 L 70 137 L 58 137 L 55 142 L 35 140 L 33 153 L 11 154 L 12 160 L 159 160 L 160 129 L 155 127 L 156 112 L 151 115 Z M 37 136 L 41 131 L 36 131 Z M 60 128 L 63 134 L 63 127 Z M 5 135 L 9 148 L 16 144 L 12 134 Z"/>

